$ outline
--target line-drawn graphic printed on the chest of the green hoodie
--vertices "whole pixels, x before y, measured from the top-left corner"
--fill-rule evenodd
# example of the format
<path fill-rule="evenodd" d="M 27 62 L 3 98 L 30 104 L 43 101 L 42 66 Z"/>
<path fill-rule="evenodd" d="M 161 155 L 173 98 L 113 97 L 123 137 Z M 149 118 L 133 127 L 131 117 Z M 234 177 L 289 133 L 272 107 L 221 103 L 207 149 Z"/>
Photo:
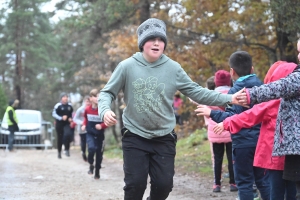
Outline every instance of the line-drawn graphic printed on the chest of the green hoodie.
<path fill-rule="evenodd" d="M 157 78 L 150 76 L 146 80 L 139 78 L 132 83 L 134 87 L 134 106 L 138 113 L 152 113 L 159 110 L 165 84 L 157 82 Z"/>

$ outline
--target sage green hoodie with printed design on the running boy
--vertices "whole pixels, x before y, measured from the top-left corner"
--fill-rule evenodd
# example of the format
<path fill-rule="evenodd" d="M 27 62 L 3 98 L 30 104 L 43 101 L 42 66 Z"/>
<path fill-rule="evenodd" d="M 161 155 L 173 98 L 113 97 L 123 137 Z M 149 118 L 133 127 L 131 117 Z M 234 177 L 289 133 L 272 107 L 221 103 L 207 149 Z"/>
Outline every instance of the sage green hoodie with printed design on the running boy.
<path fill-rule="evenodd" d="M 101 90 L 98 98 L 101 119 L 121 90 L 126 104 L 122 117 L 124 126 L 147 139 L 167 135 L 174 129 L 172 104 L 177 90 L 204 105 L 226 106 L 232 98 L 199 86 L 179 63 L 166 55 L 149 63 L 141 52 L 120 62 Z"/>

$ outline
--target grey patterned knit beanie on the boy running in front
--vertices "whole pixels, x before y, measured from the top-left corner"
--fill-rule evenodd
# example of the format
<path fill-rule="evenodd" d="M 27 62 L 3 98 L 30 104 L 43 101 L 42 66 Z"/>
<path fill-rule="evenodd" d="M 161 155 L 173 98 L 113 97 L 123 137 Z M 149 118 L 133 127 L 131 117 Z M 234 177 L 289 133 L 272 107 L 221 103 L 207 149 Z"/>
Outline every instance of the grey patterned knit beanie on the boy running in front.
<path fill-rule="evenodd" d="M 144 21 L 136 31 L 138 35 L 138 45 L 140 51 L 143 51 L 144 44 L 152 38 L 160 37 L 167 46 L 166 24 L 156 18 L 149 18 Z"/>

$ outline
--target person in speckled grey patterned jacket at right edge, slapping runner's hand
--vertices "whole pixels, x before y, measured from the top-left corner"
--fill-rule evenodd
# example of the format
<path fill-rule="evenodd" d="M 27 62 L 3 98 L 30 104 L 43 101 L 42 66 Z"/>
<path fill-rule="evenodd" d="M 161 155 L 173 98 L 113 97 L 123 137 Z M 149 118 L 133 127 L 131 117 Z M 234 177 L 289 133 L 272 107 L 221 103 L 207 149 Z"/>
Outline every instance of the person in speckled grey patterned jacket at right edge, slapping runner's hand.
<path fill-rule="evenodd" d="M 297 43 L 300 61 L 300 39 Z M 300 65 L 286 78 L 246 89 L 240 95 L 240 103 L 253 104 L 282 98 L 280 101 L 274 136 L 273 156 L 284 156 L 283 179 L 296 182 L 300 199 Z"/>

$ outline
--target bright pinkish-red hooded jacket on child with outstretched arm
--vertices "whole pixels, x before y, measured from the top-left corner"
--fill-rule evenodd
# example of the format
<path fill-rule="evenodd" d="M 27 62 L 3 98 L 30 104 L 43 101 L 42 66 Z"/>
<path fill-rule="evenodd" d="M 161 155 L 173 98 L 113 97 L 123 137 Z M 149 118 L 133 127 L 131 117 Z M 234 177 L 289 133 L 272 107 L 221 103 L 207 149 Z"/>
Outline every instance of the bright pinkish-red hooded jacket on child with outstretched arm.
<path fill-rule="evenodd" d="M 277 64 L 278 62 L 274 63 L 274 65 Z M 277 65 L 275 69 L 274 67 L 271 67 L 270 73 L 273 71 L 274 73 L 272 73 L 270 76 L 270 73 L 268 72 L 267 76 L 270 76 L 269 82 L 286 77 L 295 69 L 295 66 L 296 65 L 289 65 L 286 62 L 282 62 Z M 272 72 L 271 69 L 273 69 Z M 272 156 L 279 105 L 280 99 L 260 103 L 254 105 L 252 109 L 246 110 L 239 115 L 226 118 L 223 121 L 225 130 L 229 130 L 232 134 L 237 133 L 242 128 L 249 128 L 255 124 L 262 123 L 260 135 L 257 141 L 253 166 L 272 170 L 284 169 L 285 157 Z"/>

